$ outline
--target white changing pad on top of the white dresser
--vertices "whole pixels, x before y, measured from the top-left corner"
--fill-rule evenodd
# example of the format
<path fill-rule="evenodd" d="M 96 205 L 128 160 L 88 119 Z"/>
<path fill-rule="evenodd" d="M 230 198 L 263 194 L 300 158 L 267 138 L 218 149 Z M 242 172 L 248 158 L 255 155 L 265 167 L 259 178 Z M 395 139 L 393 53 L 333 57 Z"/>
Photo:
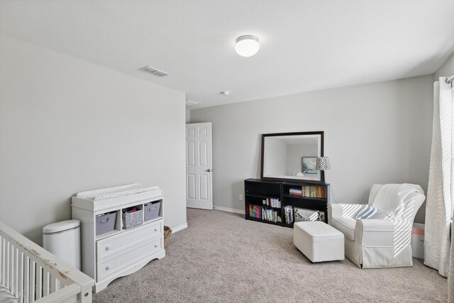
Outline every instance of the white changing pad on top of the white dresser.
<path fill-rule="evenodd" d="M 159 189 L 159 186 L 144 187 L 140 183 L 126 184 L 116 187 L 107 187 L 101 189 L 88 190 L 86 192 L 79 192 L 76 197 L 89 200 L 104 200 L 115 197 L 122 197 L 128 194 L 138 194 L 140 192 L 150 192 L 154 189 Z"/>

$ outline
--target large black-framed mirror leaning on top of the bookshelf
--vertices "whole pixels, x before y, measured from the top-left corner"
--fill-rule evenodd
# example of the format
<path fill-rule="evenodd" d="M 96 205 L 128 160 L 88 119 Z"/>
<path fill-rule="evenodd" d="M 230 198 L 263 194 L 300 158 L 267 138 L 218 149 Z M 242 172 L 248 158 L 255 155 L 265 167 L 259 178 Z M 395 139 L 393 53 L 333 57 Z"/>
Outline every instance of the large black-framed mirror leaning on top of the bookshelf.
<path fill-rule="evenodd" d="M 265 180 L 324 182 L 316 170 L 323 157 L 323 131 L 262 134 L 262 167 Z"/>

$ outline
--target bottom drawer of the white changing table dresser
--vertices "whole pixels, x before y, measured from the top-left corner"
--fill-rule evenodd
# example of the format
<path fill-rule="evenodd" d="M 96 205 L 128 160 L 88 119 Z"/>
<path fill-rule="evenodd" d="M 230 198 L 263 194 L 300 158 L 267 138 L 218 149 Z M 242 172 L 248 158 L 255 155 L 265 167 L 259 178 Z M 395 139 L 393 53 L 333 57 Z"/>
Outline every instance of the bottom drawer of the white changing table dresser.
<path fill-rule="evenodd" d="M 164 238 L 160 237 L 129 248 L 124 253 L 96 263 L 97 281 L 99 282 L 106 277 L 115 275 L 117 272 L 131 267 L 134 263 L 145 260 L 150 255 L 159 252 L 164 248 L 163 241 Z"/>

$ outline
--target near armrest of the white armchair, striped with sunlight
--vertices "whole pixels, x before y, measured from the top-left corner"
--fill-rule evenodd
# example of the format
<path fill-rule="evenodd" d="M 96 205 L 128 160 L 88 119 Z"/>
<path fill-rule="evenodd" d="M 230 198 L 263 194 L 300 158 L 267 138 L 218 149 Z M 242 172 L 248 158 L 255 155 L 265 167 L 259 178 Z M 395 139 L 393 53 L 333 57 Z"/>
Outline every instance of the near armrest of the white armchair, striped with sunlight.
<path fill-rule="evenodd" d="M 412 220 L 357 220 L 355 226 L 355 242 L 358 242 L 363 247 L 407 246 L 411 241 L 412 226 Z"/>

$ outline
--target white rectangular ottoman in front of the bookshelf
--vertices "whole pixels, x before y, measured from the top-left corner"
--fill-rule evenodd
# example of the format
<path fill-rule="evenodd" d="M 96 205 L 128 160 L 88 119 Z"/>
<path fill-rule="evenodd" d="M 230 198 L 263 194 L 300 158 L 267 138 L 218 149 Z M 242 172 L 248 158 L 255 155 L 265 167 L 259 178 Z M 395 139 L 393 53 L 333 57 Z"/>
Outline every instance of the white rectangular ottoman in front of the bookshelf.
<path fill-rule="evenodd" d="M 343 260 L 343 233 L 321 221 L 297 222 L 293 243 L 311 262 Z"/>

